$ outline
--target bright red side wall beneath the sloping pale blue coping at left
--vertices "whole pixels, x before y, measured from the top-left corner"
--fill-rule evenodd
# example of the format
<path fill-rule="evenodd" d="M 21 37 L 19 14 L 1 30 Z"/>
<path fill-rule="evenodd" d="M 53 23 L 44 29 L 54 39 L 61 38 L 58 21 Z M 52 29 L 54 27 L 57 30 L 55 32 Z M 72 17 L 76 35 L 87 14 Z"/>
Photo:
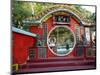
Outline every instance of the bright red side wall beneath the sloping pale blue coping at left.
<path fill-rule="evenodd" d="M 13 32 L 12 38 L 13 64 L 22 64 L 28 58 L 28 48 L 34 46 L 36 38 Z"/>

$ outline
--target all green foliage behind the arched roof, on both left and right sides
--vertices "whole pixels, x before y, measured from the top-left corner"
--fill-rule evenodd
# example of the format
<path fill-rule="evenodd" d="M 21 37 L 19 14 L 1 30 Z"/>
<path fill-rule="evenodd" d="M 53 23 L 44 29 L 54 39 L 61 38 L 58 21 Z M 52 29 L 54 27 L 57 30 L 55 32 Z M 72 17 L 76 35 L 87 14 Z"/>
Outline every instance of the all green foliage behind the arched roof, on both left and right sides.
<path fill-rule="evenodd" d="M 53 3 L 39 3 L 39 2 L 25 2 L 25 1 L 12 1 L 12 23 L 14 25 L 24 26 L 22 21 L 25 19 L 32 20 L 32 17 L 39 16 L 41 12 L 49 8 L 55 7 L 60 4 Z M 95 23 L 95 13 L 91 13 L 83 9 L 81 5 L 72 5 L 81 15 Z M 34 19 L 34 18 L 33 18 Z M 27 29 L 27 27 L 23 27 Z"/>

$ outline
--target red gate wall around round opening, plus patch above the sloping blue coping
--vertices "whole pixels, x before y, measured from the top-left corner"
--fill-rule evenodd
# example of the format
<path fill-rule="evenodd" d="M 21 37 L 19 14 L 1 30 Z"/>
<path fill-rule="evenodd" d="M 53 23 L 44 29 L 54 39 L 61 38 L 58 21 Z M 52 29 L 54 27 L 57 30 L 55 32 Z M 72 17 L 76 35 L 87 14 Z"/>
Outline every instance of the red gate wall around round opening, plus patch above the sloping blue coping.
<path fill-rule="evenodd" d="M 54 27 L 54 25 L 53 25 L 53 17 L 50 17 L 45 23 L 48 25 L 48 32 L 49 32 Z M 70 25 L 69 25 L 69 28 L 71 28 L 71 30 L 73 32 L 75 32 L 75 25 L 79 25 L 79 23 L 73 17 L 70 17 Z M 31 26 L 30 27 L 30 31 L 33 32 L 33 33 L 36 33 L 36 34 L 40 34 L 40 37 L 42 37 L 43 28 L 40 28 L 38 26 Z M 49 50 L 48 47 L 47 47 L 47 52 L 46 53 L 47 53 L 47 58 L 59 57 L 57 55 L 54 55 Z M 71 58 L 71 57 L 74 57 L 74 55 L 75 55 L 75 49 L 69 55 L 66 55 L 64 57 Z"/>

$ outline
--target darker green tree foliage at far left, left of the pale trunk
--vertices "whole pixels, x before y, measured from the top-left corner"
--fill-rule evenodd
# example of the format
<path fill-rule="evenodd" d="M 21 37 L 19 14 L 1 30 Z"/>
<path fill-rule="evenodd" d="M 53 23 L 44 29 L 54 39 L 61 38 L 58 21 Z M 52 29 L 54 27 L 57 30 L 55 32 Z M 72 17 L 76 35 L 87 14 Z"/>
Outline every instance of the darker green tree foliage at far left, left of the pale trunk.
<path fill-rule="evenodd" d="M 13 23 L 22 25 L 22 20 L 32 15 L 31 5 L 27 2 L 13 1 L 12 3 L 12 20 Z"/>

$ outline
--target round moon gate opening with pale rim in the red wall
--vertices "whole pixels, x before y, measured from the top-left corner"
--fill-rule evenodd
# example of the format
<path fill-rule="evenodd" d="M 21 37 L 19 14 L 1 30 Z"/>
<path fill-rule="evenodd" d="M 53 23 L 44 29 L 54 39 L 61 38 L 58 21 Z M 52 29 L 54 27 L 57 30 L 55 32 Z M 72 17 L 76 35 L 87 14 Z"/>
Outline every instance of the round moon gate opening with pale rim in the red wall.
<path fill-rule="evenodd" d="M 67 26 L 55 26 L 47 36 L 48 48 L 57 56 L 68 55 L 73 51 L 75 44 L 75 34 Z"/>

